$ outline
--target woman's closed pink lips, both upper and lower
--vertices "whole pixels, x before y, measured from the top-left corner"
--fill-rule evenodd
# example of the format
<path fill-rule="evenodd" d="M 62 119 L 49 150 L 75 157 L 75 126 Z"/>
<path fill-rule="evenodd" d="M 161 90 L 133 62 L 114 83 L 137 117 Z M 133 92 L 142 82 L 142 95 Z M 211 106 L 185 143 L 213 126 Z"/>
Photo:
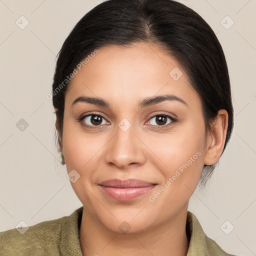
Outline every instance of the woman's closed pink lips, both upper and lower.
<path fill-rule="evenodd" d="M 102 191 L 118 201 L 129 201 L 137 198 L 155 187 L 156 184 L 140 179 L 108 179 L 99 184 Z"/>

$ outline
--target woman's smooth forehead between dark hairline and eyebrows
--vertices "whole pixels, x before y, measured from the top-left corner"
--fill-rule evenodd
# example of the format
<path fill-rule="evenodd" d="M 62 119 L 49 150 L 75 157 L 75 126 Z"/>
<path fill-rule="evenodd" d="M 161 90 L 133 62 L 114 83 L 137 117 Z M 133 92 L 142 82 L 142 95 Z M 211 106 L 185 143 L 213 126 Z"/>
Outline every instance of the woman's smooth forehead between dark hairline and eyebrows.
<path fill-rule="evenodd" d="M 188 104 L 198 104 L 181 64 L 155 44 L 105 46 L 87 60 L 68 86 L 67 104 L 81 95 L 124 104 L 158 94 L 173 94 Z"/>

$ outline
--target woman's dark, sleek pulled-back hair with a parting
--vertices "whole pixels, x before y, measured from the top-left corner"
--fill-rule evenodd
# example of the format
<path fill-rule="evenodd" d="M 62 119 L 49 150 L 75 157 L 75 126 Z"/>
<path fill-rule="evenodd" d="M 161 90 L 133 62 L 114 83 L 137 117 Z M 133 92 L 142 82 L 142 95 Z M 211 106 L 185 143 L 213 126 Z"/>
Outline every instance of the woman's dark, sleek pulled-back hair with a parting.
<path fill-rule="evenodd" d="M 95 49 L 154 42 L 180 63 L 198 93 L 208 131 L 219 109 L 228 113 L 226 144 L 233 128 L 233 107 L 227 64 L 210 26 L 191 8 L 173 0 L 106 0 L 86 13 L 65 39 L 56 63 L 52 91 L 74 67 Z M 60 151 L 66 83 L 52 94 L 60 128 L 55 130 Z M 223 153 L 222 151 L 222 153 Z M 216 163 L 204 165 L 199 186 L 204 186 Z"/>

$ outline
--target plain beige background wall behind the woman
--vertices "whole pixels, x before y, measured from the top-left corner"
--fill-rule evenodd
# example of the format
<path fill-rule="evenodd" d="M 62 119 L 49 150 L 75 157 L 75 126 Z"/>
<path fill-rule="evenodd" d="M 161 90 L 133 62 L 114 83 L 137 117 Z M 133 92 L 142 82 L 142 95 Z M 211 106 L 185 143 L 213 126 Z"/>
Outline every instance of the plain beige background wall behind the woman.
<path fill-rule="evenodd" d="M 69 215 L 81 202 L 59 163 L 51 91 L 55 57 L 75 23 L 100 0 L 0 0 L 0 231 Z M 256 254 L 256 0 L 183 0 L 212 27 L 230 73 L 234 130 L 206 189 L 189 210 L 235 255 Z M 23 15 L 29 24 L 15 24 Z M 234 24 L 226 29 L 232 22 Z M 221 22 L 221 20 L 223 20 Z M 22 24 L 24 23 L 24 19 Z M 222 23 L 222 24 L 221 24 Z M 16 123 L 25 119 L 21 131 Z M 221 225 L 228 220 L 225 234 Z"/>

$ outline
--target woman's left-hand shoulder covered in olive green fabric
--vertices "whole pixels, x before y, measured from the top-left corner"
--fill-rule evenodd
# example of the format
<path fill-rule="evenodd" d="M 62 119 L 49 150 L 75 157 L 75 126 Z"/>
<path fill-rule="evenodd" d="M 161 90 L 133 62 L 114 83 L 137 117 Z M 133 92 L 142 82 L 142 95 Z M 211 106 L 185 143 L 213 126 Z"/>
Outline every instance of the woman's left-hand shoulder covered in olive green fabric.
<path fill-rule="evenodd" d="M 29 226 L 22 234 L 16 228 L 0 232 L 0 255 L 50 255 L 57 256 L 61 226 L 69 216 L 47 220 Z M 23 227 L 24 228 L 24 227 Z"/>

